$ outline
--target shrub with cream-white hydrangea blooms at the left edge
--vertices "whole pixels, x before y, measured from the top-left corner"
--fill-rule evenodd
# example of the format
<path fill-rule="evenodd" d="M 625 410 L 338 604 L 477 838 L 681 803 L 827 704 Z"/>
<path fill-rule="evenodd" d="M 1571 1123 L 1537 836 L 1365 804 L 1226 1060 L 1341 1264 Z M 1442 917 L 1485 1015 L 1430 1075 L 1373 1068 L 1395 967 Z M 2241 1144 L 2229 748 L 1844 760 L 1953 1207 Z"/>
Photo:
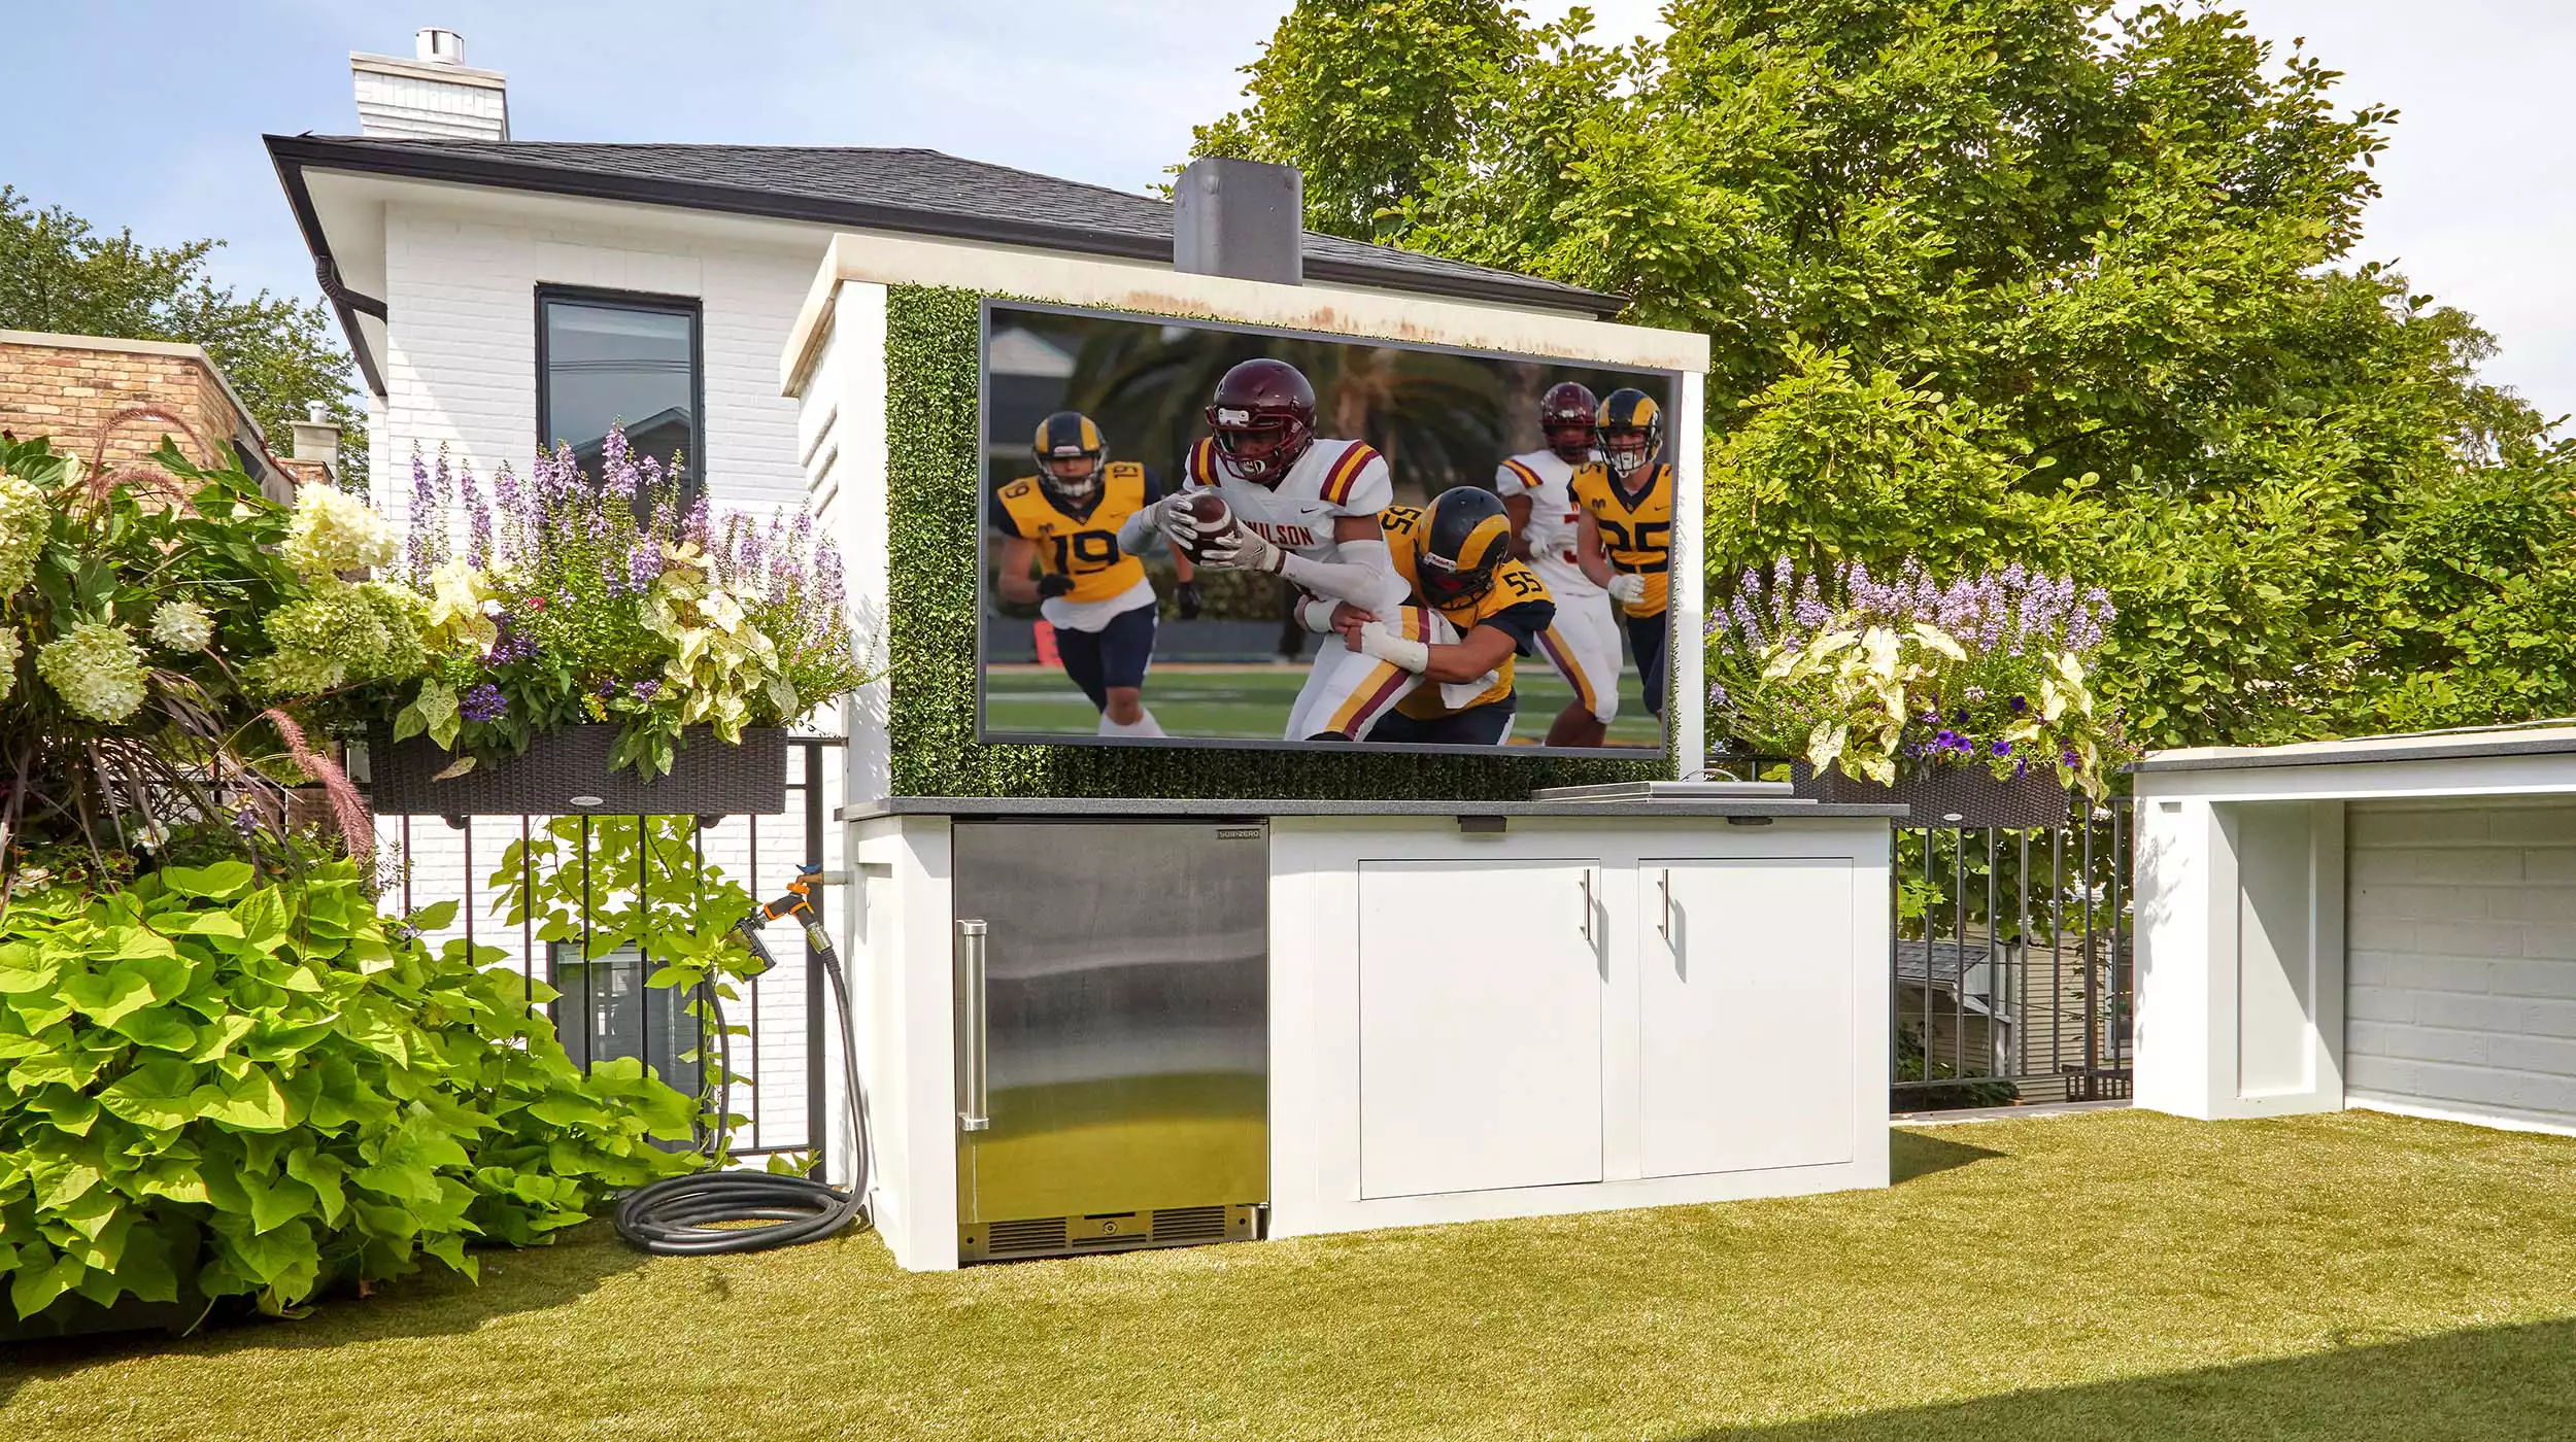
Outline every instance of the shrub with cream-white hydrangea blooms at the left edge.
<path fill-rule="evenodd" d="M 281 664 L 273 618 L 358 587 L 296 574 L 294 512 L 242 471 L 170 443 L 155 461 L 100 474 L 0 438 L 0 873 L 21 886 L 116 876 L 191 819 L 283 832 L 307 780 L 250 677 Z"/>

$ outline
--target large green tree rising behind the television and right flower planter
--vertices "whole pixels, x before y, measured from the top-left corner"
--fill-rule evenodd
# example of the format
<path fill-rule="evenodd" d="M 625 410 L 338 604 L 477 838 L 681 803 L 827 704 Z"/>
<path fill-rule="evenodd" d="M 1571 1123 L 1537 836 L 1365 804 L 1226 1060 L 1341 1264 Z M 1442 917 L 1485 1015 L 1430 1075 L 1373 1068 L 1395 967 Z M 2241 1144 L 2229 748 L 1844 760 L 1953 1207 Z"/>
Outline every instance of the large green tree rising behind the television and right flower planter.
<path fill-rule="evenodd" d="M 2221 8 L 1303 0 L 1200 152 L 1309 221 L 1700 330 L 1710 585 L 1999 559 L 2112 590 L 2148 744 L 2576 711 L 2576 466 L 2349 265 L 2396 121 Z"/>

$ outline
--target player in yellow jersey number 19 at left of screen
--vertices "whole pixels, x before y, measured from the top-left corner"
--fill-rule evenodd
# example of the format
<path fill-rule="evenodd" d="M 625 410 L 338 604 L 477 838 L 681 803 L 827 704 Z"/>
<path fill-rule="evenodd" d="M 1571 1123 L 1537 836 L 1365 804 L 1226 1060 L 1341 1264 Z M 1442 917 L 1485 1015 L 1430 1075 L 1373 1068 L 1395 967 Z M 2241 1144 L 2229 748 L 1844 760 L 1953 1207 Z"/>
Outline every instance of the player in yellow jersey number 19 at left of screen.
<path fill-rule="evenodd" d="M 1002 600 L 1038 603 L 1056 631 L 1064 675 L 1100 708 L 1103 736 L 1162 736 L 1144 708 L 1154 659 L 1154 582 L 1118 548 L 1118 525 L 1162 500 L 1136 461 L 1110 461 L 1108 440 L 1082 412 L 1059 409 L 1030 443 L 1036 476 L 992 494 L 987 523 L 1002 538 Z M 1198 582 L 1175 554 L 1180 615 L 1198 615 Z"/>

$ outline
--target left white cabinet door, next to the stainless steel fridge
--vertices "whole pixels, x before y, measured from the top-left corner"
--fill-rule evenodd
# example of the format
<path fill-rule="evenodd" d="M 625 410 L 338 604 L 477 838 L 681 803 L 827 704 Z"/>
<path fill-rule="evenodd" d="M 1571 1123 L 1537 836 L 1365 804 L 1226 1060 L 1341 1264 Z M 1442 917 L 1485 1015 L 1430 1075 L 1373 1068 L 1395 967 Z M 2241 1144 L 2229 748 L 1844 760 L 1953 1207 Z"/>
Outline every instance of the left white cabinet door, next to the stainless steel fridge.
<path fill-rule="evenodd" d="M 1589 860 L 1360 863 L 1360 1195 L 1602 1177 Z"/>

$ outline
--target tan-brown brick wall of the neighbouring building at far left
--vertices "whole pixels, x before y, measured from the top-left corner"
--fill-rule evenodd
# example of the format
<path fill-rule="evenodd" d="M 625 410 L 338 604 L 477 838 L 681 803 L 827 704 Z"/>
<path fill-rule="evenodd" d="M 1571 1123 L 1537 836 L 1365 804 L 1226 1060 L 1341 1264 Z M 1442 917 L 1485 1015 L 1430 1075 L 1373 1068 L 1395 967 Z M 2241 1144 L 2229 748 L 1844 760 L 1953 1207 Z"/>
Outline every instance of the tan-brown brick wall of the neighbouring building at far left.
<path fill-rule="evenodd" d="M 198 440 L 157 420 L 129 420 L 108 433 L 108 469 L 149 464 L 162 433 L 198 464 L 229 458 L 227 443 L 252 435 L 250 417 L 193 345 L 0 332 L 0 430 L 21 440 L 52 435 L 57 451 L 93 456 L 98 427 L 129 407 L 167 409 Z"/>

